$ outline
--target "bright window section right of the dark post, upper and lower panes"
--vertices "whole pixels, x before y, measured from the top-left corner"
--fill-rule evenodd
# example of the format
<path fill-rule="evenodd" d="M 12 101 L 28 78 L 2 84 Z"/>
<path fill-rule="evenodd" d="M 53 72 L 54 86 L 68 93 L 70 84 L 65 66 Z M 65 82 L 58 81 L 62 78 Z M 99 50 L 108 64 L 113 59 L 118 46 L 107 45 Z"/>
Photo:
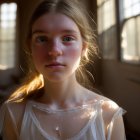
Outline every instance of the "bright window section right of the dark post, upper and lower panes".
<path fill-rule="evenodd" d="M 123 0 L 121 60 L 140 63 L 140 0 Z"/>

